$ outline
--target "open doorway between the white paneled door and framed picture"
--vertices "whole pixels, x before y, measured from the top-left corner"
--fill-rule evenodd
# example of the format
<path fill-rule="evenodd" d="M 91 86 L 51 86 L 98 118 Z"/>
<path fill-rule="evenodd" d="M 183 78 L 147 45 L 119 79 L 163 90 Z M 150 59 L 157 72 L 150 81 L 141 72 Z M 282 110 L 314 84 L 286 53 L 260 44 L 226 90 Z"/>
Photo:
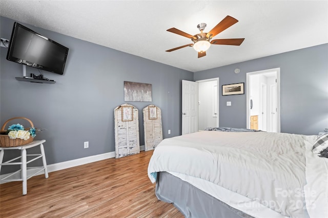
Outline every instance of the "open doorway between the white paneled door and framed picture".
<path fill-rule="evenodd" d="M 198 131 L 219 126 L 219 78 L 199 80 L 198 83 Z"/>

